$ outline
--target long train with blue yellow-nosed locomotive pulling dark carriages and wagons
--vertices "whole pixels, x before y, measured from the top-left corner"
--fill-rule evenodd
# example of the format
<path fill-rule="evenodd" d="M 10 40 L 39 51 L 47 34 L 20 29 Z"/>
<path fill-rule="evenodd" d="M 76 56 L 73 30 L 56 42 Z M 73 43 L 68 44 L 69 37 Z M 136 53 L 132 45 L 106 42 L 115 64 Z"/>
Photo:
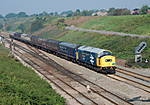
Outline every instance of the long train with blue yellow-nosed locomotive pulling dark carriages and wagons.
<path fill-rule="evenodd" d="M 44 39 L 39 36 L 18 32 L 11 33 L 9 36 L 11 39 L 21 41 L 97 72 L 106 74 L 114 74 L 116 72 L 116 58 L 110 50 Z"/>

